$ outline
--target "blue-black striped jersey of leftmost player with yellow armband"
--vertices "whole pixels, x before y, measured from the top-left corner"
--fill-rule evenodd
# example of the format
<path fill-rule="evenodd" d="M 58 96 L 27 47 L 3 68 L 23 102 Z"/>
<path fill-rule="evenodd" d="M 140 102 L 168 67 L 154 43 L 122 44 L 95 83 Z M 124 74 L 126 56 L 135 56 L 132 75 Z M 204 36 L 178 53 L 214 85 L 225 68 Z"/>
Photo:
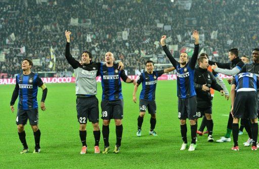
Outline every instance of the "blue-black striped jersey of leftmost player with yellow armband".
<path fill-rule="evenodd" d="M 38 108 L 38 87 L 43 84 L 44 83 L 36 73 L 31 72 L 29 75 L 17 75 L 15 90 L 19 90 L 18 109 L 29 110 Z"/>

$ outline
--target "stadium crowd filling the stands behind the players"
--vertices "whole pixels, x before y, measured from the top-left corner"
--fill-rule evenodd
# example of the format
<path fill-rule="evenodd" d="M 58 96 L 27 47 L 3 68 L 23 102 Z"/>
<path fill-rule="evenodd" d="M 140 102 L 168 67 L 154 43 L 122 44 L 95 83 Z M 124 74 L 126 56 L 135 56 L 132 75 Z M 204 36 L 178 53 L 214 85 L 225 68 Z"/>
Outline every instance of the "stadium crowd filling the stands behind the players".
<path fill-rule="evenodd" d="M 167 44 L 178 45 L 178 49 L 172 51 L 178 57 L 182 47 L 193 44 L 191 32 L 197 29 L 204 35 L 204 42 L 200 37 L 200 49 L 219 62 L 229 61 L 227 53 L 231 48 L 238 48 L 241 55 L 250 55 L 258 46 L 255 30 L 258 30 L 259 16 L 252 15 L 259 10 L 257 1 L 188 3 L 190 1 L 2 0 L 0 73 L 7 76 L 0 78 L 13 78 L 20 73 L 24 58 L 40 60 L 39 65 L 33 66 L 33 72 L 55 71 L 58 77 L 71 76 L 73 70 L 64 56 L 66 29 L 72 31 L 74 57 L 89 50 L 94 61 L 104 61 L 104 54 L 111 51 L 115 59 L 123 61 L 128 75 L 144 69 L 145 61 L 150 58 L 157 63 L 170 63 L 158 44 L 161 35 L 169 37 Z M 165 27 L 168 30 L 164 30 Z M 55 66 L 50 65 L 50 47 L 54 49 Z"/>

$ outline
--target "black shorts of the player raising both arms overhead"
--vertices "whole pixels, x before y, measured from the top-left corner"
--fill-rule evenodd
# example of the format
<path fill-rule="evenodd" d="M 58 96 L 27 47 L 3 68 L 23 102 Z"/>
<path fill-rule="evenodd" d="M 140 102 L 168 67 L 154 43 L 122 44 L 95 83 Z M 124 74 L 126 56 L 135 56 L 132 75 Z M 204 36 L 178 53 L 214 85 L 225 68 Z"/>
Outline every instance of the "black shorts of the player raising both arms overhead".
<path fill-rule="evenodd" d="M 178 118 L 181 120 L 197 119 L 196 115 L 197 100 L 196 95 L 188 98 L 178 98 Z"/>

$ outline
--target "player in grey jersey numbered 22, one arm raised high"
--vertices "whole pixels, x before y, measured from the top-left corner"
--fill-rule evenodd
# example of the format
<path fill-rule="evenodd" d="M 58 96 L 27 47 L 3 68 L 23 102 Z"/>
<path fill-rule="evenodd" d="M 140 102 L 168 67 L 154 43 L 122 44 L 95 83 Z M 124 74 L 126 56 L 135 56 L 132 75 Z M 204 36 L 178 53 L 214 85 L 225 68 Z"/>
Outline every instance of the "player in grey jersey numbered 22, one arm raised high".
<path fill-rule="evenodd" d="M 97 94 L 96 77 L 100 75 L 101 63 L 92 61 L 92 53 L 83 51 L 81 54 L 81 63 L 75 60 L 70 54 L 70 35 L 71 31 L 65 31 L 66 52 L 65 56 L 68 63 L 73 67 L 75 73 L 75 93 L 76 93 L 76 111 L 77 119 L 80 123 L 79 136 L 82 142 L 80 154 L 87 153 L 87 120 L 92 122 L 95 137 L 95 153 L 100 153 L 100 127 L 99 127 L 99 106 Z M 119 62 L 120 69 L 123 64 Z"/>

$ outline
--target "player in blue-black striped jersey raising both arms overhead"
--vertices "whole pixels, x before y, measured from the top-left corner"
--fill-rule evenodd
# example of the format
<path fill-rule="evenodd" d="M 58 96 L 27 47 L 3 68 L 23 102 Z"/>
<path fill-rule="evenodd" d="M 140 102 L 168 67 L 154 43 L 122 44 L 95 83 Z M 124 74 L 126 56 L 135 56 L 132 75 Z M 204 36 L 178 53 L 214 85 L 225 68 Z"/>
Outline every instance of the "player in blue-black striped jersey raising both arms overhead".
<path fill-rule="evenodd" d="M 196 148 L 196 130 L 197 124 L 196 115 L 197 101 L 196 92 L 194 88 L 194 69 L 199 53 L 199 32 L 193 31 L 193 38 L 195 39 L 194 52 L 192 58 L 189 61 L 189 56 L 186 52 L 180 54 L 179 62 L 172 57 L 168 48 L 165 45 L 166 36 L 162 36 L 160 43 L 166 56 L 169 58 L 172 65 L 177 70 L 177 95 L 178 99 L 178 117 L 180 119 L 181 135 L 184 143 L 180 150 L 185 150 L 188 147 L 187 144 L 187 126 L 186 119 L 190 120 L 191 124 L 191 137 L 192 143 L 189 151 L 194 151 Z"/>

